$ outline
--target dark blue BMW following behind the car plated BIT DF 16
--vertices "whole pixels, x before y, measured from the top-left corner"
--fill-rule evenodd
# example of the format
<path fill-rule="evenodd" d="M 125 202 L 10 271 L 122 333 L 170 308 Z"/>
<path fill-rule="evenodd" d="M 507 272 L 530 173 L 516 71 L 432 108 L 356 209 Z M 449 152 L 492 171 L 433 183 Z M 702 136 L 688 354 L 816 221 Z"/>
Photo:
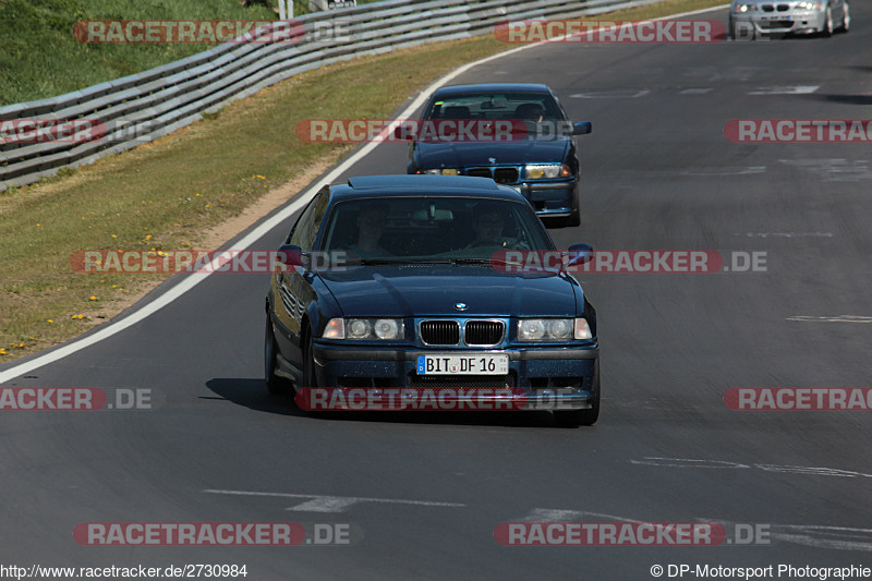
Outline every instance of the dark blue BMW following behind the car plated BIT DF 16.
<path fill-rule="evenodd" d="M 522 138 L 516 133 L 516 138 L 509 140 L 413 140 L 408 173 L 493 178 L 523 194 L 549 223 L 580 223 L 581 170 L 574 135 L 590 133 L 592 125 L 588 121 L 571 123 L 548 86 L 500 83 L 441 87 L 428 99 L 421 122 L 438 126 L 449 120 L 465 120 L 476 128 L 513 121 L 514 128 L 521 125 L 525 131 Z"/>

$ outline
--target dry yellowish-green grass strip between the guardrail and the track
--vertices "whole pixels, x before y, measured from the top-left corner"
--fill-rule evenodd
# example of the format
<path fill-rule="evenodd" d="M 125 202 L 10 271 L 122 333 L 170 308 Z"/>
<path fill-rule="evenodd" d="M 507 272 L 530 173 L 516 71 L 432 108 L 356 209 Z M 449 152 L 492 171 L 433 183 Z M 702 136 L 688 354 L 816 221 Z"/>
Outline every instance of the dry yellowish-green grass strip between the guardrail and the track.
<path fill-rule="evenodd" d="M 669 0 L 609 17 L 717 3 Z M 166 278 L 76 274 L 69 262 L 74 252 L 196 247 L 202 232 L 269 189 L 349 152 L 348 145 L 299 141 L 299 121 L 384 119 L 446 72 L 507 48 L 484 36 L 312 71 L 153 144 L 1 193 L 0 362 L 75 337 Z M 404 159 L 405 147 L 395 146 Z"/>

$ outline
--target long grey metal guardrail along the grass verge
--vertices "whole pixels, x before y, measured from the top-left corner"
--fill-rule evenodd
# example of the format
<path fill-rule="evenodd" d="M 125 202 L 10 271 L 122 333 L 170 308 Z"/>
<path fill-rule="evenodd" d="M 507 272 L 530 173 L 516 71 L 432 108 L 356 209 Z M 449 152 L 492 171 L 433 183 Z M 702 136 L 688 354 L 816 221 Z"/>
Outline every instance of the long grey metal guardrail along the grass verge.
<path fill-rule="evenodd" d="M 201 120 L 203 112 L 215 112 L 263 87 L 326 64 L 487 34 L 506 20 L 597 14 L 658 1 L 387 0 L 306 14 L 294 21 L 305 31 L 337 29 L 337 24 L 344 23 L 344 34 L 296 44 L 254 44 L 245 41 L 254 37 L 250 33 L 138 74 L 59 97 L 0 107 L 3 122 L 93 120 L 105 129 L 104 136 L 90 141 L 0 142 L 0 191 L 150 142 Z"/>

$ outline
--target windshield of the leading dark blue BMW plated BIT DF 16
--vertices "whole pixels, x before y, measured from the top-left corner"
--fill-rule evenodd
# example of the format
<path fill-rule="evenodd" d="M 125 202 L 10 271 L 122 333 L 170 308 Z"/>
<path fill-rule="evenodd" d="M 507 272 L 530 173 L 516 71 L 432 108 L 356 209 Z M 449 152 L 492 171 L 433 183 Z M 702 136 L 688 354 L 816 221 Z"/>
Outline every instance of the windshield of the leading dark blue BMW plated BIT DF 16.
<path fill-rule="evenodd" d="M 489 264 L 507 250 L 553 250 L 525 204 L 469 196 L 367 197 L 336 204 L 320 250 L 361 264 Z"/>

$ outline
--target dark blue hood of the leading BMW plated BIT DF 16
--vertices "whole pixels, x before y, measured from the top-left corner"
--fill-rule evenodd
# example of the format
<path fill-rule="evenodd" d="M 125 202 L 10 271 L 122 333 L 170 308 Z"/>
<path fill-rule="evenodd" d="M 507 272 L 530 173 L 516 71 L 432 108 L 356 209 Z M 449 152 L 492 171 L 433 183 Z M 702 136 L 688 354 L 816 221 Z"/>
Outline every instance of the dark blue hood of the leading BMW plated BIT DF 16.
<path fill-rule="evenodd" d="M 352 267 L 320 278 L 343 316 L 576 316 L 581 294 L 566 275 L 504 274 L 489 266 Z"/>

